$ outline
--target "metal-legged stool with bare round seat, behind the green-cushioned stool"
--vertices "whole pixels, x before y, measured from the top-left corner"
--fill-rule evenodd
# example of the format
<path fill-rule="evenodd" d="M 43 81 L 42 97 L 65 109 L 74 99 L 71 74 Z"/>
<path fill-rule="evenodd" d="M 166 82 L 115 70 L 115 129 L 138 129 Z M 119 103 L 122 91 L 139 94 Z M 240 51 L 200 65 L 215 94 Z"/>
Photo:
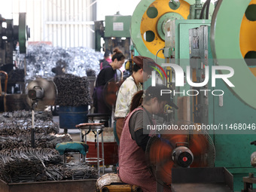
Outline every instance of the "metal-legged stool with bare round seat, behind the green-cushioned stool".
<path fill-rule="evenodd" d="M 80 136 L 82 139 L 82 142 L 87 143 L 87 134 L 90 133 L 90 131 L 96 132 L 96 148 L 97 148 L 97 157 L 90 157 L 85 158 L 85 161 L 88 163 L 97 163 L 98 166 L 98 176 L 100 176 L 100 169 L 99 169 L 99 163 L 102 162 L 102 174 L 105 173 L 105 160 L 104 160 L 104 140 L 103 140 L 103 134 L 102 134 L 102 158 L 99 157 L 99 134 L 102 133 L 105 126 L 104 123 L 80 123 L 79 125 L 76 125 L 78 129 L 81 131 Z"/>

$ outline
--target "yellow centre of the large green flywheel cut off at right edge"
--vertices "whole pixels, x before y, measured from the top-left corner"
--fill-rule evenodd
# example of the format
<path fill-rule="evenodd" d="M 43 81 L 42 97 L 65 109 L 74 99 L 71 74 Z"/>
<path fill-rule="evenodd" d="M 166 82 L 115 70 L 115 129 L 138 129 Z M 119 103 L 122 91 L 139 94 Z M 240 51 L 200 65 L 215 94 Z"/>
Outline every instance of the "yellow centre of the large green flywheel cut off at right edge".
<path fill-rule="evenodd" d="M 251 0 L 249 5 L 256 5 L 256 0 Z M 242 56 L 248 51 L 256 51 L 256 21 L 248 20 L 245 15 L 242 17 L 241 29 L 240 29 L 240 50 Z M 249 68 L 254 76 L 256 76 L 256 68 Z"/>

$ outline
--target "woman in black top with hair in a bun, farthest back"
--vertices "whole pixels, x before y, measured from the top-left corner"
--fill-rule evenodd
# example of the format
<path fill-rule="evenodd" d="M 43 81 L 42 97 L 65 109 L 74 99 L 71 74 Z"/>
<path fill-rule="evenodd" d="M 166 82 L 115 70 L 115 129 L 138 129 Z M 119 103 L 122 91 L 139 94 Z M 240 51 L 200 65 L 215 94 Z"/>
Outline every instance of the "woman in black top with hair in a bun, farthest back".
<path fill-rule="evenodd" d="M 96 79 L 96 86 L 93 90 L 93 106 L 95 107 L 95 113 L 111 114 L 111 109 L 105 104 L 103 89 L 105 84 L 108 83 L 111 78 L 117 76 L 117 69 L 123 66 L 125 56 L 119 49 L 114 49 L 114 54 L 111 58 L 112 62 L 105 66 Z"/>

